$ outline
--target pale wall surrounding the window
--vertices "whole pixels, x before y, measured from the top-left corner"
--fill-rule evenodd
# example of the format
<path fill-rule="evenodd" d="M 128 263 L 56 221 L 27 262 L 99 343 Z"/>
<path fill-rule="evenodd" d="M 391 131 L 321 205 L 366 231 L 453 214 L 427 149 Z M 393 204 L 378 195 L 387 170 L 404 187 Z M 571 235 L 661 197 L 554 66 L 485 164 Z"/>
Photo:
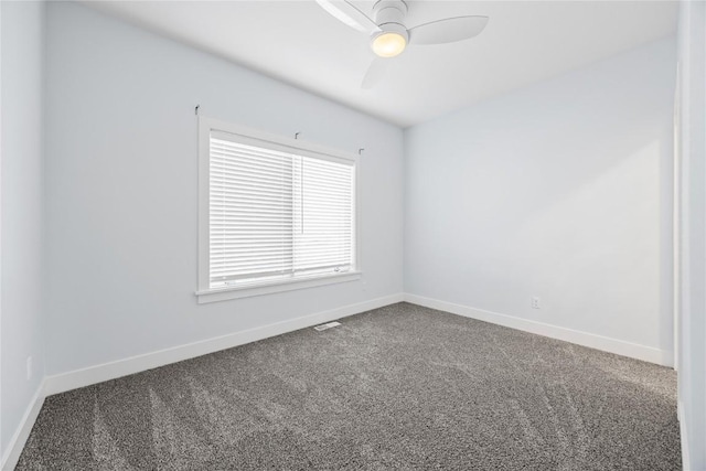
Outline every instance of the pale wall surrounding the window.
<path fill-rule="evenodd" d="M 403 132 L 104 17 L 47 6 L 47 371 L 402 292 Z M 196 118 L 362 157 L 362 281 L 196 304 Z"/>

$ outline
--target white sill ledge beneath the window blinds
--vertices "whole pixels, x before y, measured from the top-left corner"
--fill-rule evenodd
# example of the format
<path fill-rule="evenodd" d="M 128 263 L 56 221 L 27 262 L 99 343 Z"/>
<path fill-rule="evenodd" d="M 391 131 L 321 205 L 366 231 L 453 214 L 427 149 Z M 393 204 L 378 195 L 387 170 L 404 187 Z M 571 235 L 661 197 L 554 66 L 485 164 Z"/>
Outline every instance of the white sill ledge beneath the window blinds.
<path fill-rule="evenodd" d="M 276 281 L 267 285 L 254 285 L 242 287 L 228 287 L 220 289 L 206 289 L 196 291 L 199 304 L 207 302 L 226 301 L 228 299 L 249 298 L 252 296 L 271 295 L 296 289 L 313 288 L 318 286 L 334 285 L 361 279 L 361 271 L 350 271 L 341 275 L 324 275 L 298 280 Z"/>

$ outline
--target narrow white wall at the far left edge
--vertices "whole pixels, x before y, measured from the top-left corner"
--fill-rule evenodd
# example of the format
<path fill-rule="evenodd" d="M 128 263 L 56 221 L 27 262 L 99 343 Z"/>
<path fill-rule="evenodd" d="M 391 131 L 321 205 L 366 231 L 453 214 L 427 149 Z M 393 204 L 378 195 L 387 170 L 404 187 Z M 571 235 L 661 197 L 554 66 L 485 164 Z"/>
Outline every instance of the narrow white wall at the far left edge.
<path fill-rule="evenodd" d="M 0 457 L 44 375 L 42 278 L 42 63 L 44 4 L 2 2 Z M 34 374 L 26 379 L 25 361 Z"/>

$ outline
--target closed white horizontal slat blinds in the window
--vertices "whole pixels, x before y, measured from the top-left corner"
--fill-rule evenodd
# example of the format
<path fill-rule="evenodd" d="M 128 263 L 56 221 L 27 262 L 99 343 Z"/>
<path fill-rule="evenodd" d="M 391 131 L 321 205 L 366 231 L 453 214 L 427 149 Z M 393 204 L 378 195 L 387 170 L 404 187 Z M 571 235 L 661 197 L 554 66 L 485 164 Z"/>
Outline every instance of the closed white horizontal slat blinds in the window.
<path fill-rule="evenodd" d="M 354 269 L 354 163 L 228 136 L 210 139 L 211 288 Z"/>

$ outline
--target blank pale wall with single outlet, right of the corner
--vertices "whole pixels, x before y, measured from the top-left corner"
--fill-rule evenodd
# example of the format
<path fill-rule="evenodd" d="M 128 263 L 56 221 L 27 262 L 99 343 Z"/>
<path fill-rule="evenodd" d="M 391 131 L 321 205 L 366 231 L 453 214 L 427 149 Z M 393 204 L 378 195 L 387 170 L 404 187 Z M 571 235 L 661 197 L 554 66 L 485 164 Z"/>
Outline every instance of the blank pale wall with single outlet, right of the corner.
<path fill-rule="evenodd" d="M 408 129 L 405 291 L 670 363 L 675 67 L 665 39 Z"/>

